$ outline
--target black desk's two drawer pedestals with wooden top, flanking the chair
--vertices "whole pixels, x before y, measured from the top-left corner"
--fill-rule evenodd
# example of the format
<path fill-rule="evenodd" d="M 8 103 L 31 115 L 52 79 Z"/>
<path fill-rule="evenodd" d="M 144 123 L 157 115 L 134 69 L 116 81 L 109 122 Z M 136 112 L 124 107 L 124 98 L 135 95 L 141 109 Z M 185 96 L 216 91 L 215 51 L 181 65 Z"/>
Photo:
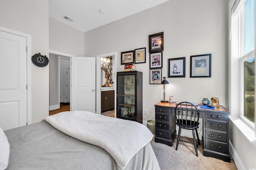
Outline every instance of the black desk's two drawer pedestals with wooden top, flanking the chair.
<path fill-rule="evenodd" d="M 175 103 L 159 102 L 155 105 L 155 142 L 169 146 L 173 145 L 176 137 L 175 107 Z M 230 162 L 228 147 L 229 111 L 223 106 L 214 107 L 215 109 L 201 109 L 200 106 L 197 107 L 200 112 L 200 118 L 203 120 L 203 155 Z"/>

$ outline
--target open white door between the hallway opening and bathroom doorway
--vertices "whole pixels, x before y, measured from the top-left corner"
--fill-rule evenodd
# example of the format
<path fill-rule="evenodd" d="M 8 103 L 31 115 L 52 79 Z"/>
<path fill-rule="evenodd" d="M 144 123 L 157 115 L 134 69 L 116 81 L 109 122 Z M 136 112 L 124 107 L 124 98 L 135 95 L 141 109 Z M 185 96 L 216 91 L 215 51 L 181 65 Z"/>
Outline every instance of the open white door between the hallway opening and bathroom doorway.
<path fill-rule="evenodd" d="M 95 58 L 72 57 L 71 110 L 95 113 Z"/>

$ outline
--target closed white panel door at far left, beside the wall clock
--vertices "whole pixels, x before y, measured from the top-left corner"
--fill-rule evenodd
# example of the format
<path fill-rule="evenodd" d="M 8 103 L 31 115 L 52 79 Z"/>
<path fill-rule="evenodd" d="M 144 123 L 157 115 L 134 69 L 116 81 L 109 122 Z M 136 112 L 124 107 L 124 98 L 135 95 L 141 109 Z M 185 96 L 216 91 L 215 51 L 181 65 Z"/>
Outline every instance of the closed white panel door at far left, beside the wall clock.
<path fill-rule="evenodd" d="M 26 37 L 0 31 L 0 127 L 27 123 Z"/>

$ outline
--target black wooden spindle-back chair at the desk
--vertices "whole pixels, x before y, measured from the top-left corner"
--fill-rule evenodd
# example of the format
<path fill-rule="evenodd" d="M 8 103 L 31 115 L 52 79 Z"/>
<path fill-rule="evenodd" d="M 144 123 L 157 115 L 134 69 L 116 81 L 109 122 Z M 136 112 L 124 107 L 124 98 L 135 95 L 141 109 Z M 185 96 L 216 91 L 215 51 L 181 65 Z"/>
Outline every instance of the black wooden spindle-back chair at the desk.
<path fill-rule="evenodd" d="M 199 120 L 198 108 L 190 102 L 180 102 L 175 107 L 175 119 L 176 119 L 176 125 L 179 126 L 176 150 L 178 149 L 179 141 L 182 141 L 182 140 L 180 140 L 181 129 L 192 130 L 194 143 L 188 142 L 188 141 L 183 141 L 183 142 L 194 144 L 195 150 L 196 150 L 196 156 L 198 156 L 197 147 L 198 147 L 198 145 L 200 145 L 198 132 L 197 132 L 198 125 L 199 125 L 199 123 L 198 123 L 198 120 Z M 195 131 L 196 131 L 196 136 L 197 136 L 197 140 L 198 140 L 197 143 L 196 143 Z"/>

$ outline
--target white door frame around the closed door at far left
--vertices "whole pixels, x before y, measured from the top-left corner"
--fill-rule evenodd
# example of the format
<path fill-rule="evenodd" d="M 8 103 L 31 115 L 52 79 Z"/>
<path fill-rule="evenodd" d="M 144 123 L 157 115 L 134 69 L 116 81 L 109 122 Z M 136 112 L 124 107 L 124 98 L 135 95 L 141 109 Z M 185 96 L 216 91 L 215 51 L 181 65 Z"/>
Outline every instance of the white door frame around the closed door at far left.
<path fill-rule="evenodd" d="M 0 26 L 0 31 L 26 38 L 27 42 L 27 124 L 31 124 L 31 35 Z"/>

